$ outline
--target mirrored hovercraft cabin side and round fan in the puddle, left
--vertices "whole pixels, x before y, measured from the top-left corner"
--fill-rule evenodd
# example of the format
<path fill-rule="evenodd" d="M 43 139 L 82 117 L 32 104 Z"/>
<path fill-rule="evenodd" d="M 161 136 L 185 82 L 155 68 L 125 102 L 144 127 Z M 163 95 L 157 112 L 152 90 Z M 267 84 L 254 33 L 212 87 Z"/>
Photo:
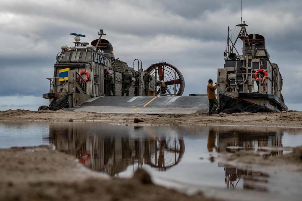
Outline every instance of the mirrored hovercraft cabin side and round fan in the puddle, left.
<path fill-rule="evenodd" d="M 69 123 L 61 127 L 50 124 L 48 140 L 59 152 L 75 155 L 85 166 L 111 176 L 133 164 L 166 171 L 180 162 L 185 152 L 182 137 L 157 135 L 150 127 L 131 128 L 112 130 L 110 125 Z M 133 136 L 135 133 L 140 135 Z"/>

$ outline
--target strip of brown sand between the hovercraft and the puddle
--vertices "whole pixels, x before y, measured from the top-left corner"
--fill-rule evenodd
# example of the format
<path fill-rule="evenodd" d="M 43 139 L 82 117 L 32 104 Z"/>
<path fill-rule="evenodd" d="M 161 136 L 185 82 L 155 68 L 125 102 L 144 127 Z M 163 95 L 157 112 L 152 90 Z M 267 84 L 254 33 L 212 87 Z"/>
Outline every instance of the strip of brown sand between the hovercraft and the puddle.
<path fill-rule="evenodd" d="M 205 115 L 198 113 L 178 115 L 104 114 L 85 111 L 0 111 L 0 121 L 112 121 L 129 125 L 246 125 L 302 127 L 302 111 L 236 113 Z"/>

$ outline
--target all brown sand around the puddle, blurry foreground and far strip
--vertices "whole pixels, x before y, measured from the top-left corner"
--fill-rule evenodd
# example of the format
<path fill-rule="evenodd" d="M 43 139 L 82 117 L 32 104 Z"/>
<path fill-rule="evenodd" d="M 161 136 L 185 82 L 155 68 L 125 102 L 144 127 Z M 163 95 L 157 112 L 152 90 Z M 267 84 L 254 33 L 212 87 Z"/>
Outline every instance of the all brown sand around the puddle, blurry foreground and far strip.
<path fill-rule="evenodd" d="M 128 125 L 247 125 L 297 127 L 302 112 L 112 115 L 75 111 L 0 111 L 0 121 L 111 121 Z M 298 173 L 302 181 L 302 147 L 286 155 L 263 158 L 254 152 L 220 153 L 220 162 L 244 168 Z M 131 179 L 110 178 L 80 164 L 73 156 L 58 153 L 53 146 L 0 149 L 0 200 L 276 200 L 265 194 L 207 188 L 180 192 L 153 184 L 144 170 Z M 294 200 L 291 198 L 291 200 Z M 278 199 L 277 199 L 278 200 Z M 282 200 L 280 198 L 279 200 Z M 299 200 L 299 198 L 297 198 Z"/>

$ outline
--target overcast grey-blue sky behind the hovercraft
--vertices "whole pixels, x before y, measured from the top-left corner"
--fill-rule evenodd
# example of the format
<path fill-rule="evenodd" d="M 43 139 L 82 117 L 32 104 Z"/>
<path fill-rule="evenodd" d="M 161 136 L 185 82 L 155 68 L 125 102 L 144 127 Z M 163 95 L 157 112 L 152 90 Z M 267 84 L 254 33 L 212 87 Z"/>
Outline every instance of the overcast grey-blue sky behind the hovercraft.
<path fill-rule="evenodd" d="M 228 27 L 235 39 L 242 17 L 249 34 L 265 37 L 288 109 L 302 111 L 301 8 L 300 0 L 2 0 L 0 110 L 49 105 L 46 78 L 60 47 L 73 46 L 69 33 L 90 43 L 100 29 L 130 67 L 134 59 L 144 69 L 166 61 L 182 72 L 183 95 L 206 93 L 207 80 L 223 68 Z"/>

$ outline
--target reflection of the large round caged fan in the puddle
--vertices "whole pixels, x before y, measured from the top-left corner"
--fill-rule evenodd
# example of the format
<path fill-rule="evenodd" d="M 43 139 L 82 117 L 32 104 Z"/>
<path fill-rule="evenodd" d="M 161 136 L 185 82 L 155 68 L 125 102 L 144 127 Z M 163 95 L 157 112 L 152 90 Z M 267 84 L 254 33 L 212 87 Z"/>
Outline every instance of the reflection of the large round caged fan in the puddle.
<path fill-rule="evenodd" d="M 154 153 L 150 154 L 147 164 L 160 171 L 166 171 L 177 165 L 185 153 L 184 140 L 158 140 L 154 144 Z"/>

